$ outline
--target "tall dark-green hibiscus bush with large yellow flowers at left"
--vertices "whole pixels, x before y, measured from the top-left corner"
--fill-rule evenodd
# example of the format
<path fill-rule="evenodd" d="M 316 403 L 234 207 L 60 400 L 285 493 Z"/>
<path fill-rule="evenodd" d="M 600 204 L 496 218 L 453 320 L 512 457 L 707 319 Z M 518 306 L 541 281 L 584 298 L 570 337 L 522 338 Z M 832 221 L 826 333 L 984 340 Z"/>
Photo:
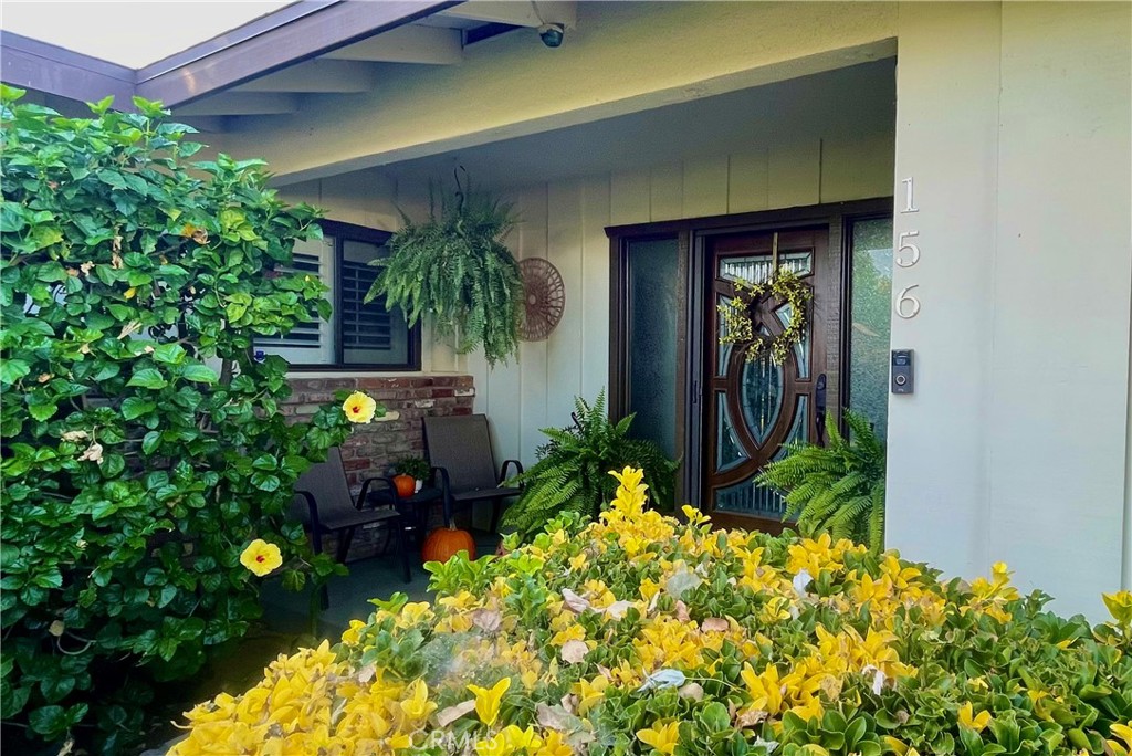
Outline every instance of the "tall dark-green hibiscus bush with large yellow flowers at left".
<path fill-rule="evenodd" d="M 260 161 L 191 162 L 156 104 L 70 119 L 20 94 L 0 106 L 5 745 L 114 753 L 156 682 L 259 616 L 252 539 L 290 587 L 335 569 L 284 515 L 349 423 L 289 426 L 286 363 L 252 359 L 257 336 L 328 315 L 288 267 L 315 211 L 284 206 Z"/>

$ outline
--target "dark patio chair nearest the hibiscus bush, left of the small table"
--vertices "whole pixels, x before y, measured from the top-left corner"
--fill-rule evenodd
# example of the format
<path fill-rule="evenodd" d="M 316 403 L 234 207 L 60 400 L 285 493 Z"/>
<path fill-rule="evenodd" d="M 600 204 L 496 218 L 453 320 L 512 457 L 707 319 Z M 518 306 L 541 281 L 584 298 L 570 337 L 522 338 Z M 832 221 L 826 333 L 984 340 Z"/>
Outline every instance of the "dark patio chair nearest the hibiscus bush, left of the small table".
<path fill-rule="evenodd" d="M 379 523 L 391 531 L 391 536 L 401 551 L 408 583 L 412 579 L 412 574 L 401 513 L 393 507 L 363 508 L 369 489 L 375 483 L 393 486 L 385 478 L 368 478 L 361 484 L 358 499 L 351 497 L 345 469 L 342 466 L 342 454 L 337 447 L 333 447 L 326 453 L 326 462 L 311 465 L 310 470 L 295 482 L 291 514 L 310 531 L 315 553 L 323 552 L 323 535 L 328 533 L 337 535 L 338 548 L 335 559 L 340 564 L 345 564 L 354 531 L 365 525 Z M 302 506 L 303 501 L 307 506 Z"/>

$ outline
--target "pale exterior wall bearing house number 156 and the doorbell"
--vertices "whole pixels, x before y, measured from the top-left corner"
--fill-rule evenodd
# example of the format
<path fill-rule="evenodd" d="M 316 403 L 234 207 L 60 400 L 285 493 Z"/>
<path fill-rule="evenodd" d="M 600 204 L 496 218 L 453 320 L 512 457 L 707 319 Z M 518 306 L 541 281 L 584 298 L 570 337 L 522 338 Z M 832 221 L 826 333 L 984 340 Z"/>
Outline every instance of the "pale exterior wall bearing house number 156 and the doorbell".
<path fill-rule="evenodd" d="M 1095 617 L 1132 583 L 1130 29 L 1127 3 L 900 9 L 895 232 L 923 257 L 893 285 L 923 309 L 892 328 L 917 393 L 890 401 L 889 542 Z"/>

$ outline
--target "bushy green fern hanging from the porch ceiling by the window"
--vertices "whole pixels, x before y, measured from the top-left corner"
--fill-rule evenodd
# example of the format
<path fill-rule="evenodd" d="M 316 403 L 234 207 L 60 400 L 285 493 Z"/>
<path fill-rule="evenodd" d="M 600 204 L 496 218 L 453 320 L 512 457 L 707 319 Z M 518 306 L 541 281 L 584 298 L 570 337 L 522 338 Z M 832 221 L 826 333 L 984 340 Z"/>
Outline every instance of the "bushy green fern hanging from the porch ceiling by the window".
<path fill-rule="evenodd" d="M 366 301 L 385 297 L 400 307 L 410 327 L 429 315 L 438 336 L 453 334 L 460 352 L 483 345 L 488 364 L 518 353 L 518 318 L 523 283 L 518 264 L 503 238 L 517 222 L 512 206 L 489 192 L 463 183 L 440 197 L 437 208 L 429 187 L 429 215 L 414 223 L 402 213 L 404 226 L 389 239 L 389 256 L 375 260 L 381 268 Z M 466 187 L 465 187 L 466 184 Z"/>

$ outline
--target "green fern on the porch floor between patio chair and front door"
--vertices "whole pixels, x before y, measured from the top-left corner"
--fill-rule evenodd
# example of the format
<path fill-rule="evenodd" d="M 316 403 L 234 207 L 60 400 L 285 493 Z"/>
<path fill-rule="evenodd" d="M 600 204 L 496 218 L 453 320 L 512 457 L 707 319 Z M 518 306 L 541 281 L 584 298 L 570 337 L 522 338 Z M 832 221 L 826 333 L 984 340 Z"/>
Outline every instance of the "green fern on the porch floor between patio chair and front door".
<path fill-rule="evenodd" d="M 617 489 L 617 480 L 609 471 L 626 465 L 644 470 L 654 507 L 674 506 L 679 463 L 669 459 L 653 441 L 629 437 L 633 415 L 610 422 L 604 390 L 592 405 L 575 397 L 574 409 L 574 424 L 543 428 L 550 440 L 539 447 L 539 461 L 507 481 L 524 490 L 505 513 L 503 524 L 515 529 L 524 540 L 563 512 L 597 517 Z"/>

